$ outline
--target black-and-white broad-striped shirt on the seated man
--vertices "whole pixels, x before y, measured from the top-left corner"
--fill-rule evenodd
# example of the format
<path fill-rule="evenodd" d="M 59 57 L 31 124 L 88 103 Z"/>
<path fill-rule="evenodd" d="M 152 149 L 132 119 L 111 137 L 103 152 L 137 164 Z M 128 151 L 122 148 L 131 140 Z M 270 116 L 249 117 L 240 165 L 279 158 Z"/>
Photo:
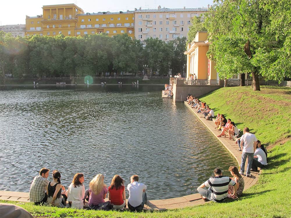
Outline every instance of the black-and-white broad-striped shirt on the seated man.
<path fill-rule="evenodd" d="M 211 200 L 220 202 L 227 198 L 228 185 L 234 186 L 235 181 L 228 176 L 215 176 L 209 178 L 204 185 L 211 187 Z"/>

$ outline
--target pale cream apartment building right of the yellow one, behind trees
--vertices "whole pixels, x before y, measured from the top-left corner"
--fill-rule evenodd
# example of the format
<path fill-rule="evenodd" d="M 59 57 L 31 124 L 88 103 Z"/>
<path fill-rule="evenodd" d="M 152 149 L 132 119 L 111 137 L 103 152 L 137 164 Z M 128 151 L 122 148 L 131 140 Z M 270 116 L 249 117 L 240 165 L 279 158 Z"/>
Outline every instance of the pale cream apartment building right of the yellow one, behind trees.
<path fill-rule="evenodd" d="M 187 37 L 191 18 L 207 12 L 207 8 L 161 8 L 134 10 L 135 37 L 141 41 L 146 38 L 159 38 L 168 43 L 178 37 Z"/>

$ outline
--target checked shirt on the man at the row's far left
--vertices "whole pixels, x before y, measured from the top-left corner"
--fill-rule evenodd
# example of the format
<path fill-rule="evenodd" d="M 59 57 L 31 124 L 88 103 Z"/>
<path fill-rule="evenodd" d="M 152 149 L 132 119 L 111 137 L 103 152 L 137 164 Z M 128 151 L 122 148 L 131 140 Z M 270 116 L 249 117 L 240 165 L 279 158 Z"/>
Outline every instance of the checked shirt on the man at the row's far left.
<path fill-rule="evenodd" d="M 30 202 L 40 202 L 45 197 L 45 188 L 49 184 L 47 178 L 42 176 L 34 177 L 29 191 Z"/>

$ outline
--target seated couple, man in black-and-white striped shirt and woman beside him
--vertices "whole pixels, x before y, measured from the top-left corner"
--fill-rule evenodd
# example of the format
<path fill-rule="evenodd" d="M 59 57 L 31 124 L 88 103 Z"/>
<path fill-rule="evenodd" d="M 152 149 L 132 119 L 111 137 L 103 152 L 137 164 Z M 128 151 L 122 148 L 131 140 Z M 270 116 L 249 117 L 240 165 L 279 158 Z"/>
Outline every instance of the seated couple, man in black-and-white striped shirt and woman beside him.
<path fill-rule="evenodd" d="M 228 170 L 233 176 L 232 178 L 222 176 L 221 170 L 216 168 L 214 169 L 214 176 L 197 188 L 204 201 L 222 202 L 227 197 L 235 199 L 242 195 L 244 179 L 239 174 L 237 167 L 230 166 Z"/>

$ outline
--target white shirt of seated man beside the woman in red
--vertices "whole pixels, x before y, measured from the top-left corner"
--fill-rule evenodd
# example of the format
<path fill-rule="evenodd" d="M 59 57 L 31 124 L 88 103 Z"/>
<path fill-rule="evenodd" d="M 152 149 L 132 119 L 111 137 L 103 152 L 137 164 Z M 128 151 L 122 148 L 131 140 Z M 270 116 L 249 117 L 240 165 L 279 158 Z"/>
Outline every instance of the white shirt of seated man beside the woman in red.
<path fill-rule="evenodd" d="M 143 190 L 146 189 L 146 185 L 143 183 L 139 183 L 134 181 L 127 185 L 127 190 L 129 191 L 128 203 L 137 207 L 141 205 L 143 202 Z"/>

